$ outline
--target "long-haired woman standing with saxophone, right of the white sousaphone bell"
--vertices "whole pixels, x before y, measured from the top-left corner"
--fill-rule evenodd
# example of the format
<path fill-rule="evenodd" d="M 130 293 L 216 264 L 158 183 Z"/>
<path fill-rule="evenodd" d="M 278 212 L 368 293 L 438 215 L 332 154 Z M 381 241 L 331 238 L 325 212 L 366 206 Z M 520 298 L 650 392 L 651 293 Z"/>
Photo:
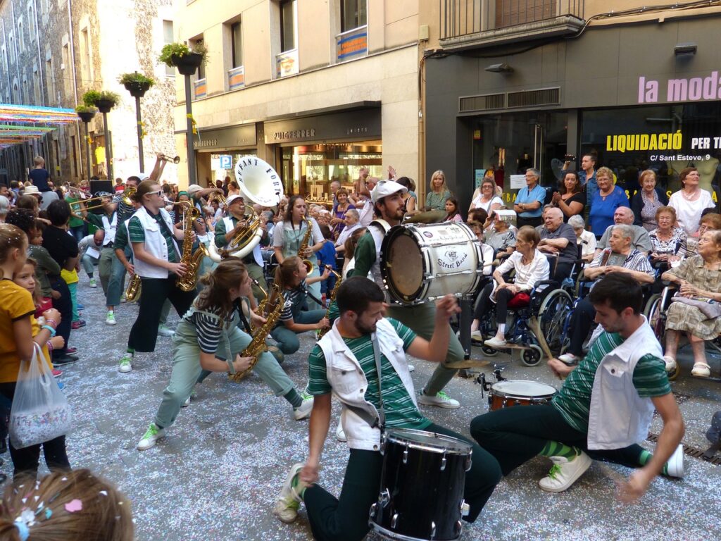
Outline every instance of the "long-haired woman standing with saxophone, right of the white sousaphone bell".
<path fill-rule="evenodd" d="M 273 228 L 273 250 L 278 263 L 283 263 L 283 260 L 291 257 L 291 255 L 300 255 L 301 258 L 309 260 L 313 265 L 313 271 L 309 274 L 312 280 L 312 278 L 320 276 L 318 258 L 315 254 L 323 247 L 325 239 L 318 222 L 314 218 L 307 216 L 306 209 L 306 202 L 300 195 L 291 197 L 283 221 L 279 221 Z M 298 251 L 308 232 L 308 222 L 306 220 L 311 223 L 311 234 L 309 235 L 310 238 L 305 253 L 299 254 Z M 311 299 L 308 302 L 308 307 L 311 310 L 319 309 L 321 308 L 320 282 L 309 281 L 309 284 L 312 285 L 309 287 Z"/>

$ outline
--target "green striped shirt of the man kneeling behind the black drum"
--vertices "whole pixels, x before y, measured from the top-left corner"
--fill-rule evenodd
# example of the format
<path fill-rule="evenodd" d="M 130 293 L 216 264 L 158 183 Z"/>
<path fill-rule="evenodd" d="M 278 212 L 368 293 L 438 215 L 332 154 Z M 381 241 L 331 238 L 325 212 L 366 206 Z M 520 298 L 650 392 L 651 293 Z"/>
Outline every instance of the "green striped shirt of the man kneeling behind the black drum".
<path fill-rule="evenodd" d="M 393 319 L 387 320 L 393 325 L 398 336 L 403 340 L 403 349 L 407 350 L 416 334 L 401 322 Z M 364 395 L 365 399 L 379 408 L 378 395 L 378 370 L 376 369 L 376 358 L 373 355 L 373 343 L 371 335 L 363 335 L 360 338 L 343 338 L 346 346 L 361 364 L 361 369 L 368 379 L 368 389 Z M 326 395 L 332 391 L 327 377 L 327 366 L 323 350 L 316 344 L 308 359 L 309 382 L 308 392 L 311 395 Z M 383 409 L 386 414 L 386 427 L 395 428 L 427 428 L 431 421 L 421 415 L 413 403 L 412 398 L 403 385 L 399 375 L 393 368 L 391 362 L 381 353 L 381 372 L 383 374 Z"/>

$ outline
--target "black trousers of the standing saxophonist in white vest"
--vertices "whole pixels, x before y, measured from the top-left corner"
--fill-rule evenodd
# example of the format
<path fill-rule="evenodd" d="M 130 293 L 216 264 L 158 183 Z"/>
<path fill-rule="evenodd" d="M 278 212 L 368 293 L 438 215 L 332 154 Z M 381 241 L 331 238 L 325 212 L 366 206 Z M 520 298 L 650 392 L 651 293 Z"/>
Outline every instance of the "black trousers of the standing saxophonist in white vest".
<path fill-rule="evenodd" d="M 155 351 L 160 312 L 165 299 L 170 301 L 180 317 L 183 317 L 193 304 L 195 289 L 182 291 L 175 285 L 176 279 L 174 274 L 168 278 L 141 278 L 140 309 L 138 319 L 133 323 L 128 336 L 128 348 L 140 352 Z"/>

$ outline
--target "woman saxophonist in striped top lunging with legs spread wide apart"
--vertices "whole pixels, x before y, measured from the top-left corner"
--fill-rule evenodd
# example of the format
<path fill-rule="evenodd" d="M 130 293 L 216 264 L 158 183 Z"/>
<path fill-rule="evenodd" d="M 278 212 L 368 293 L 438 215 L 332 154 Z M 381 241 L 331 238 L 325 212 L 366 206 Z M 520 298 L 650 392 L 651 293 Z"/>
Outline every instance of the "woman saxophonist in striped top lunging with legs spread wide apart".
<path fill-rule="evenodd" d="M 211 372 L 244 371 L 253 359 L 240 356 L 252 340 L 239 328 L 240 322 L 249 328 L 240 301 L 252 293 L 243 262 L 237 258 L 228 258 L 219 263 L 214 271 L 200 278 L 200 283 L 204 289 L 178 323 L 173 341 L 170 382 L 163 391 L 163 400 L 154 422 L 150 423 L 138 442 L 139 451 L 150 449 L 158 439 L 165 436 L 165 430 L 174 423 L 180 408 L 189 403 L 190 393 L 196 383 L 202 382 Z M 255 324 L 260 326 L 265 323 L 262 317 L 257 317 L 252 311 L 249 315 Z M 313 398 L 304 399 L 301 396 L 271 353 L 262 353 L 253 371 L 276 396 L 288 400 L 293 406 L 293 418 L 296 421 L 310 415 Z"/>

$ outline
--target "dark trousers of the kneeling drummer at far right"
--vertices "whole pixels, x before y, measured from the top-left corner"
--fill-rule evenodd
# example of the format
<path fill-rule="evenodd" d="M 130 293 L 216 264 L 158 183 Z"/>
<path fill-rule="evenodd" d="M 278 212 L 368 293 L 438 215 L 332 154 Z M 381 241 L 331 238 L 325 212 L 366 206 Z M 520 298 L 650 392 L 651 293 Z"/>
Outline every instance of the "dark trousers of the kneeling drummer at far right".
<path fill-rule="evenodd" d="M 637 444 L 623 449 L 588 451 L 588 434 L 570 426 L 552 404 L 513 406 L 478 415 L 471 421 L 471 436 L 497 459 L 503 475 L 539 454 L 548 441 L 580 447 L 594 459 L 628 467 L 639 467 L 643 452 Z"/>

